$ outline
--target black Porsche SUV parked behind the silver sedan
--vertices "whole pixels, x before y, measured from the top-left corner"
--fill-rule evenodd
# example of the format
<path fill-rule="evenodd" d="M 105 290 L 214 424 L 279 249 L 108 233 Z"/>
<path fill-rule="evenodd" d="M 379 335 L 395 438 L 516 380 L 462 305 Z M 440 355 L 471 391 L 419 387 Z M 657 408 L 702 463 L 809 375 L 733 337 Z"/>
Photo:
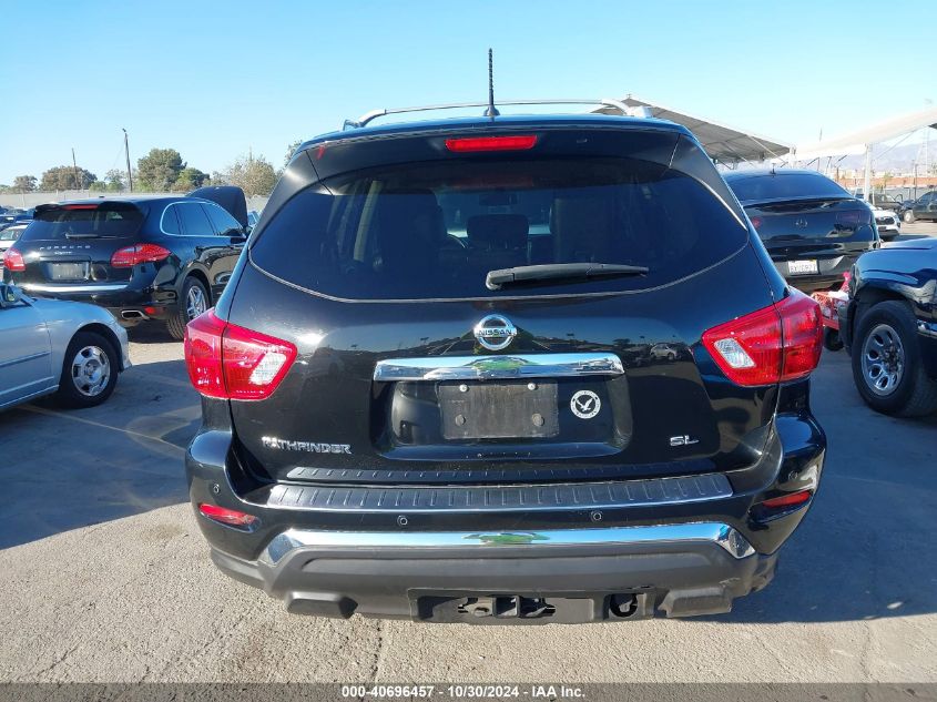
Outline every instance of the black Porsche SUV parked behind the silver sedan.
<path fill-rule="evenodd" d="M 233 186 L 40 205 L 3 256 L 3 279 L 38 297 L 101 305 L 125 327 L 163 323 L 182 339 L 227 284 L 246 222 Z"/>

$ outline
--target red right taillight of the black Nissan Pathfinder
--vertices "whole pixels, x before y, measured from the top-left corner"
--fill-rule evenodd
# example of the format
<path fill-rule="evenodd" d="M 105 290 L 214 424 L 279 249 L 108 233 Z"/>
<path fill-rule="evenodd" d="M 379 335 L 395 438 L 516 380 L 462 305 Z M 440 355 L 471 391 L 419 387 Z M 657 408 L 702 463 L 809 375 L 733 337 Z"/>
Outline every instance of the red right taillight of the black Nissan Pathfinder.
<path fill-rule="evenodd" d="M 819 305 L 792 289 L 780 303 L 704 332 L 703 346 L 737 385 L 803 378 L 816 368 L 823 348 Z"/>

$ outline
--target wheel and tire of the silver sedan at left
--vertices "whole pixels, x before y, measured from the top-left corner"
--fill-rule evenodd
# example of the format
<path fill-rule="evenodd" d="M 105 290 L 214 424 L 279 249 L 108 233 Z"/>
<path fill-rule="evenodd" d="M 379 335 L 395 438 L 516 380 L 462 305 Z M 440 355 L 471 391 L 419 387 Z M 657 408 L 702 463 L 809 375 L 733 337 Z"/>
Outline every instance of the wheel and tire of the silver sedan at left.
<path fill-rule="evenodd" d="M 65 349 L 55 404 L 72 409 L 100 405 L 114 391 L 120 367 L 120 356 L 106 337 L 79 332 Z"/>

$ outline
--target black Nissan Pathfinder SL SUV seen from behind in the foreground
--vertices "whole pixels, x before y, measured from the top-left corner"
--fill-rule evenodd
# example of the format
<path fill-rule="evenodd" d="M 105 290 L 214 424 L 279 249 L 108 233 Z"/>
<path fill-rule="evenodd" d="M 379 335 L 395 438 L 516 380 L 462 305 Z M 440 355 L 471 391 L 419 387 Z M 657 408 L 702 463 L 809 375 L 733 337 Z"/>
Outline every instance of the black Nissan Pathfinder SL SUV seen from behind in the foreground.
<path fill-rule="evenodd" d="M 354 126 L 189 324 L 193 508 L 291 612 L 726 612 L 816 494 L 821 337 L 682 126 Z"/>

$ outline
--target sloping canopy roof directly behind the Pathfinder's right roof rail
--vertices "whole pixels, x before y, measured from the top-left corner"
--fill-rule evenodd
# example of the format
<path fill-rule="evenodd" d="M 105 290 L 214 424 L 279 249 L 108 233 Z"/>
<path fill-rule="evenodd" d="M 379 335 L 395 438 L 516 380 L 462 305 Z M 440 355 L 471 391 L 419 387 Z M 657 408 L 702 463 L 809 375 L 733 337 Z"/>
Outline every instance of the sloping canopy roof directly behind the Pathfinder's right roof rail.
<path fill-rule="evenodd" d="M 621 100 L 618 100 L 618 102 L 631 109 L 645 108 L 645 112 L 649 112 L 652 118 L 683 124 L 693 132 L 711 159 L 725 165 L 734 165 L 740 162 L 758 162 L 765 161 L 766 159 L 780 159 L 790 153 L 793 147 L 791 144 L 776 139 L 768 139 L 767 136 L 727 126 L 713 120 L 686 114 L 685 112 L 680 112 L 659 103 L 642 100 L 632 94 L 625 95 Z M 615 109 L 605 105 L 597 109 L 595 112 L 614 114 Z"/>

